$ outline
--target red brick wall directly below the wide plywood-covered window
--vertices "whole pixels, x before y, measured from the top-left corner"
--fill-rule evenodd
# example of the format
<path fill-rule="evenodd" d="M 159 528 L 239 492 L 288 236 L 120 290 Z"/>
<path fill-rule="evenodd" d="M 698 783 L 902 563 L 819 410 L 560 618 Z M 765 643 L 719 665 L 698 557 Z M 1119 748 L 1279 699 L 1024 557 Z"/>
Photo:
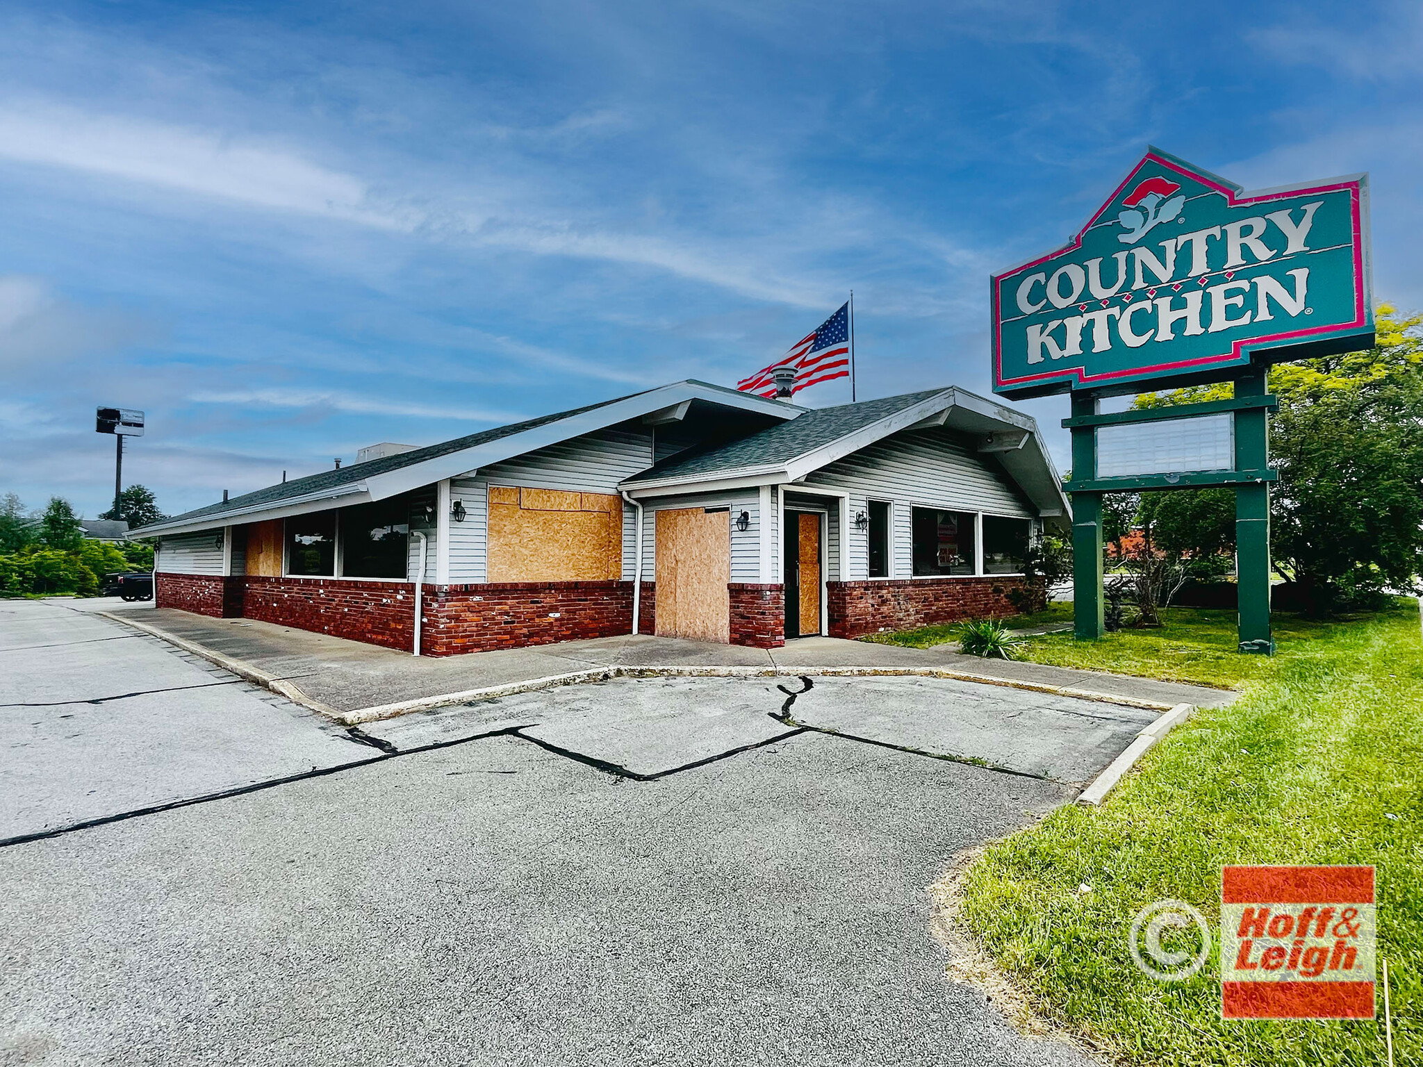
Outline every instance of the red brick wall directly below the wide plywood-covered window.
<path fill-rule="evenodd" d="M 433 586 L 425 596 L 421 647 L 430 656 L 632 630 L 632 582 L 491 582 Z M 647 600 L 642 610 L 642 617 L 650 619 Z"/>

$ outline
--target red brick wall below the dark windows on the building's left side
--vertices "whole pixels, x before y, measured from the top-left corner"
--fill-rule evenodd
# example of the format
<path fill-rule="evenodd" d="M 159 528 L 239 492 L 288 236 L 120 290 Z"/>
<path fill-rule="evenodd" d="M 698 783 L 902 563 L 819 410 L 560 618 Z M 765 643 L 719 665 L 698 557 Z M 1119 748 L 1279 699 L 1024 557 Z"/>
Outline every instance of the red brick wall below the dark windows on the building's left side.
<path fill-rule="evenodd" d="M 248 619 L 330 633 L 410 652 L 414 643 L 416 588 L 407 582 L 354 582 L 343 578 L 262 578 L 248 575 Z M 431 593 L 425 586 L 425 626 Z"/>

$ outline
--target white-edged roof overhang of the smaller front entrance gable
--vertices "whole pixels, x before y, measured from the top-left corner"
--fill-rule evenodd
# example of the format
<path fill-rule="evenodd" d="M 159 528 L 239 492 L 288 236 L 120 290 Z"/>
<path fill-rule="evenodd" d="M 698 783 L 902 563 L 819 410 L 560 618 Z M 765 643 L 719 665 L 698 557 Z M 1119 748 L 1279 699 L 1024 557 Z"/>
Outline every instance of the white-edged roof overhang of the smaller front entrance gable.
<path fill-rule="evenodd" d="M 1037 431 L 1037 423 L 1020 411 L 952 387 L 918 404 L 845 434 L 788 462 L 737 467 L 714 475 L 635 478 L 622 482 L 633 499 L 650 499 L 692 492 L 781 485 L 804 481 L 811 472 L 851 452 L 904 430 L 943 427 L 979 440 L 979 451 L 993 454 L 1009 477 L 1032 501 L 1040 518 L 1066 528 L 1072 508 L 1062 488 L 1062 478 Z"/>

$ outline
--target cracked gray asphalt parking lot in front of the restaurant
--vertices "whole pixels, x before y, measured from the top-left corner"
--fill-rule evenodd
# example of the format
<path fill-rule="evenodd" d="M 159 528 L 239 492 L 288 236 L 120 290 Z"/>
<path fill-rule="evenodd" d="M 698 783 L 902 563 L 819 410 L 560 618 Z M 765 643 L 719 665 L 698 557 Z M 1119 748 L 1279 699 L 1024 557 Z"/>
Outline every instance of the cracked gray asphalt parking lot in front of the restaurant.
<path fill-rule="evenodd" d="M 0 848 L 4 1063 L 1084 1063 L 946 979 L 928 888 L 1150 713 L 618 679 L 353 738 L 0 612 L 4 834 L 54 834 Z"/>

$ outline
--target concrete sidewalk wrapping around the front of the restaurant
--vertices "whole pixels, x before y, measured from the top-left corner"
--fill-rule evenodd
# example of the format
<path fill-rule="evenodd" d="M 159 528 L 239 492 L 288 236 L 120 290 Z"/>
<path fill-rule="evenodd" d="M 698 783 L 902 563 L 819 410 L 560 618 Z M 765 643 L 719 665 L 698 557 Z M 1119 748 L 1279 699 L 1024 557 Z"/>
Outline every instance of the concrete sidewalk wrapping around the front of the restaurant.
<path fill-rule="evenodd" d="M 804 637 L 781 649 L 747 649 L 652 636 L 596 637 L 529 649 L 416 657 L 373 644 L 290 629 L 252 619 L 212 619 L 175 609 L 115 609 L 166 636 L 282 679 L 337 713 L 527 683 L 603 667 L 751 667 L 794 674 L 797 669 L 914 670 L 946 669 L 1030 686 L 1100 693 L 1160 706 L 1214 707 L 1234 693 L 1154 679 L 1104 674 L 1037 663 L 962 656 L 946 647 L 904 649 L 892 644 Z"/>

